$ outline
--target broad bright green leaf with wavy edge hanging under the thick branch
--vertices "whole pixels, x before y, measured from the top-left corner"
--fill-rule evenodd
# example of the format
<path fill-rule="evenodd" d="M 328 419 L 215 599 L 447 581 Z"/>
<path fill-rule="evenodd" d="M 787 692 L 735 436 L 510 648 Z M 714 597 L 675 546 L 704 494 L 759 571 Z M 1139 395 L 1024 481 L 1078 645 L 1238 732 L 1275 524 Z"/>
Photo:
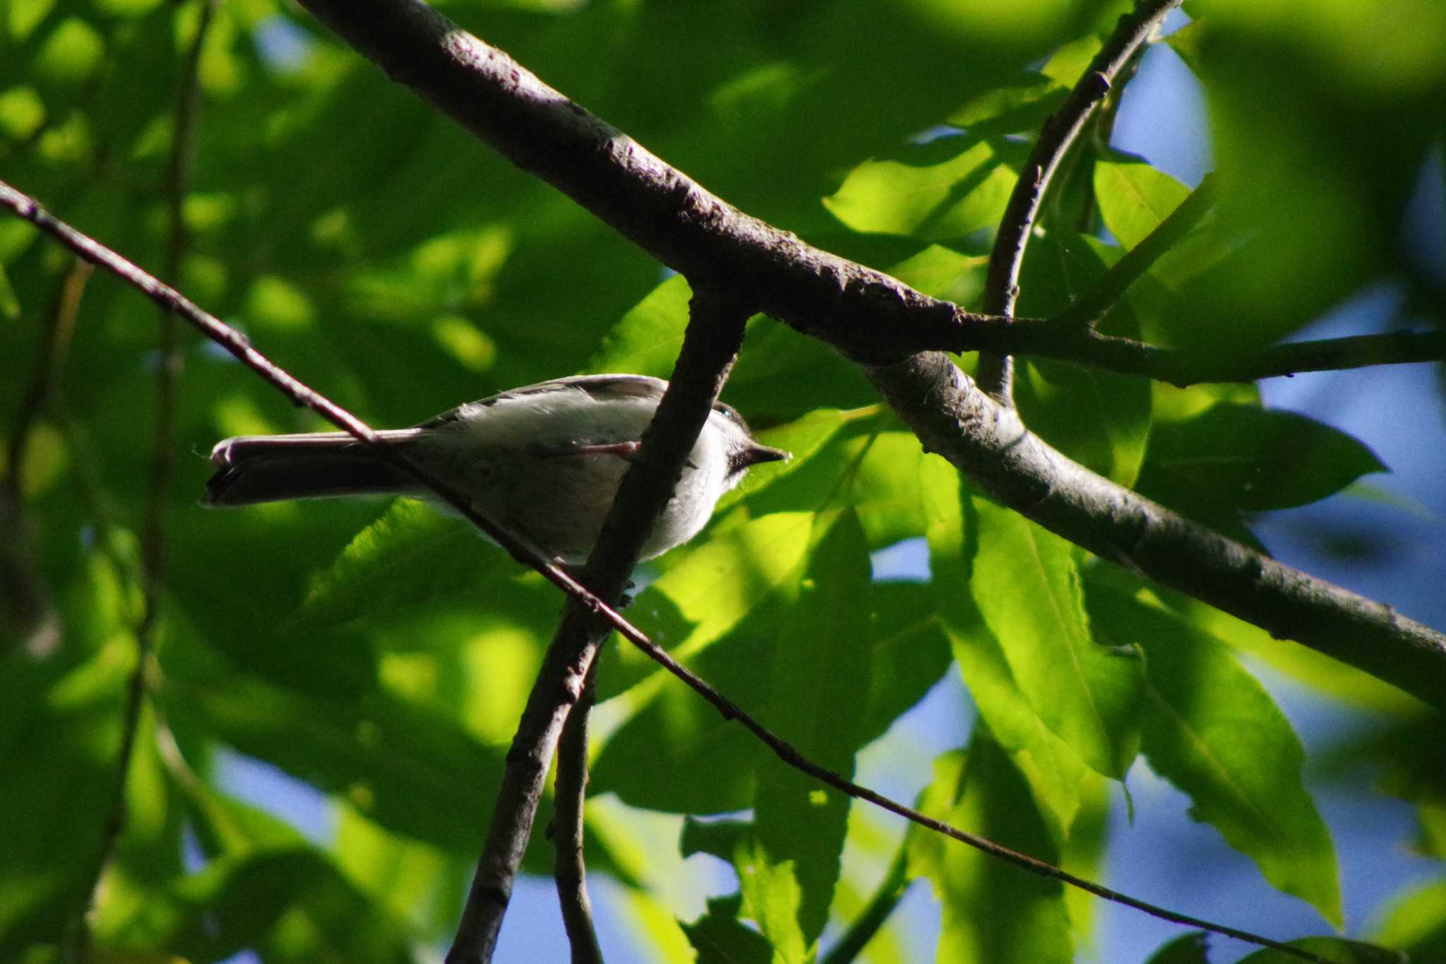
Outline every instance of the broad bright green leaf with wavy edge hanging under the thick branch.
<path fill-rule="evenodd" d="M 1105 776 L 1139 744 L 1139 663 L 1089 629 L 1070 543 L 983 499 L 970 591 L 1040 720 Z"/>

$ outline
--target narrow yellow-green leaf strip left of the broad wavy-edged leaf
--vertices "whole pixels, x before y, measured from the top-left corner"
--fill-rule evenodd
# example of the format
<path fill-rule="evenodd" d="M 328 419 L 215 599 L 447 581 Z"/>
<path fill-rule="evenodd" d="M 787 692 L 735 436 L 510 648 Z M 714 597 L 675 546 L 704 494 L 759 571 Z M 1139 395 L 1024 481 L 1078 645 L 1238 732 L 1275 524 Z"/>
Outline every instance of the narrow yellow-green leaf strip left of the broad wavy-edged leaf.
<path fill-rule="evenodd" d="M 1048 821 L 1056 840 L 1069 835 L 1080 808 L 1080 785 L 1089 769 L 1069 743 L 1056 736 L 1009 669 L 999 640 L 985 626 L 969 593 L 975 533 L 964 532 L 964 507 L 959 473 L 941 458 L 921 467 L 927 493 L 930 597 L 953 645 L 959 671 L 979 715 L 995 740 L 1014 760 L 1034 793 L 1035 805 Z"/>

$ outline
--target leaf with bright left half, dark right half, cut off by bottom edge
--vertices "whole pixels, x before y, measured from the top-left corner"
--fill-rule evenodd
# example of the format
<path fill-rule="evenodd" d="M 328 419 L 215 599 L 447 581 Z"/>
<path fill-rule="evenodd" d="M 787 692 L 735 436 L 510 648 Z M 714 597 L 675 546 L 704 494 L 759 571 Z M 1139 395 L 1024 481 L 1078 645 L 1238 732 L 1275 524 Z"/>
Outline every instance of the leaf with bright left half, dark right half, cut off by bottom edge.
<path fill-rule="evenodd" d="M 940 756 L 920 808 L 1047 863 L 1058 851 L 1030 789 L 980 727 L 966 752 Z M 1064 893 L 1057 880 L 1024 873 L 940 834 L 911 830 L 910 870 L 923 873 L 943 905 L 937 960 L 959 964 L 1073 957 Z"/>

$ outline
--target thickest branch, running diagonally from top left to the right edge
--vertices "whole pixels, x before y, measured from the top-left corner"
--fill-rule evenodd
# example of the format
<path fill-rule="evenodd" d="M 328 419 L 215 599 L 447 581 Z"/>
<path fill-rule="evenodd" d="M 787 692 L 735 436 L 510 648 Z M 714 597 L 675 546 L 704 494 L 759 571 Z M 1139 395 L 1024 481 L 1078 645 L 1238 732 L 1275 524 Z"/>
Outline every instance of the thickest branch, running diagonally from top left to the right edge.
<path fill-rule="evenodd" d="M 872 360 L 866 366 L 870 377 L 925 448 L 953 452 L 959 470 L 986 490 L 1014 493 L 1004 502 L 1044 528 L 1277 636 L 1446 705 L 1446 636 L 1251 552 L 1089 473 L 1030 435 L 1017 416 L 972 383 L 967 396 L 962 387 L 937 392 L 954 386 L 959 374 L 951 364 L 949 371 L 940 367 L 941 356 L 908 357 L 927 347 L 1001 351 L 1005 334 L 1024 324 L 969 315 L 742 214 L 419 0 L 377 1 L 364 12 L 346 0 L 301 3 L 393 78 L 665 264 L 694 282 L 714 277 L 732 283 L 748 292 L 755 308 L 855 360 Z M 1069 328 L 1038 322 L 1028 338 L 1041 354 L 1051 353 L 1058 335 L 1050 332 Z M 996 344 L 970 344 L 982 337 Z M 1423 340 L 1439 347 L 1423 335 L 1406 337 L 1413 350 Z M 1145 364 L 1139 358 L 1147 356 L 1155 366 L 1164 364 L 1158 358 L 1178 360 L 1171 350 L 1095 332 L 1080 334 L 1079 343 L 1093 345 L 1096 357 L 1118 353 L 1137 366 Z M 1306 351 L 1299 345 L 1280 350 Z M 1002 426 L 1008 434 L 1001 434 Z M 957 457 L 962 452 L 972 458 Z M 1194 571 L 1206 549 L 1213 562 L 1202 559 Z M 1141 565 L 1141 558 L 1150 565 Z M 1359 636 L 1342 640 L 1345 627 Z"/>

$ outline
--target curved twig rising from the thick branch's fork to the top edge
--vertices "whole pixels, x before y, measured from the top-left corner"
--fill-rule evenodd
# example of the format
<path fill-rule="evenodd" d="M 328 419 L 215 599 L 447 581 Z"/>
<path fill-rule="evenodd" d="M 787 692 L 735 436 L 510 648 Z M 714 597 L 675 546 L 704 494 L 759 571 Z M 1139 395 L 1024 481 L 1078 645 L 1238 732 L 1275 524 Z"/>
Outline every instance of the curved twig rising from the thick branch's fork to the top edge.
<path fill-rule="evenodd" d="M 985 280 L 983 309 L 991 315 L 1014 317 L 1019 296 L 1019 267 L 1024 249 L 1040 214 L 1040 201 L 1050 186 L 1060 160 L 1084 127 L 1084 121 L 1109 94 L 1119 69 L 1141 43 L 1155 30 L 1164 16 L 1180 0 L 1137 0 L 1135 9 L 1119 17 L 1115 32 L 1105 40 L 1095 59 L 1058 111 L 1045 121 L 1030 152 L 1014 192 L 999 220 L 993 250 L 989 253 L 989 273 Z M 979 387 L 996 402 L 1012 406 L 1014 366 L 1008 356 L 985 353 L 979 356 Z"/>

